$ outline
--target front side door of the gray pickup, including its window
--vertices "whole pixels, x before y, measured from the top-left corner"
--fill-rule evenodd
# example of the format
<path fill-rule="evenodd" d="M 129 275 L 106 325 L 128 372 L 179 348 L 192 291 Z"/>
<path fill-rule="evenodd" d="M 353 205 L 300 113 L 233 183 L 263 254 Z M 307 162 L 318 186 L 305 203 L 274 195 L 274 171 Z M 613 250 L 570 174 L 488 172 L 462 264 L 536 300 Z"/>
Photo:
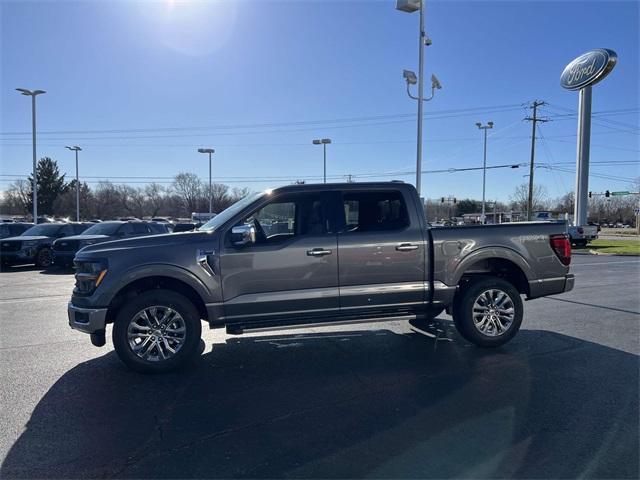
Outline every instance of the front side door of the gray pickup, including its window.
<path fill-rule="evenodd" d="M 255 244 L 234 247 L 229 232 L 225 235 L 220 269 L 228 322 L 338 312 L 332 197 L 327 192 L 282 194 L 240 222 L 254 225 Z"/>

